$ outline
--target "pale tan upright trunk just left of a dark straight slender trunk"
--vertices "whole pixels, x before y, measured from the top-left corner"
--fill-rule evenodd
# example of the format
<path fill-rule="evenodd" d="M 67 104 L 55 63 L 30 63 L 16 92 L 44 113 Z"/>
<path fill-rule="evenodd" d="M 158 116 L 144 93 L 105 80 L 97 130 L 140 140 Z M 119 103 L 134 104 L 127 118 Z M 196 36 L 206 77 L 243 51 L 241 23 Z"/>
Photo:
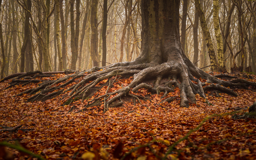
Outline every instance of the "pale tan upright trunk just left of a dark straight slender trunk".
<path fill-rule="evenodd" d="M 97 17 L 98 0 L 91 3 L 91 58 L 93 66 L 99 66 L 98 57 L 98 17 Z"/>

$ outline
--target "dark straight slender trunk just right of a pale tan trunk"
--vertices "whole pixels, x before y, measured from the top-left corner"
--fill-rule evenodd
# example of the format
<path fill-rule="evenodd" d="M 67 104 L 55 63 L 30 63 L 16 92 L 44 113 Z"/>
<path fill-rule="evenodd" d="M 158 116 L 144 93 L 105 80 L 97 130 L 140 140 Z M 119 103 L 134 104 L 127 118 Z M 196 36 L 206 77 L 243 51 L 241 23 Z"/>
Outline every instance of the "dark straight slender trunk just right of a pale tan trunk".
<path fill-rule="evenodd" d="M 104 0 L 103 4 L 103 23 L 102 23 L 102 66 L 106 66 L 107 61 L 107 0 Z"/>

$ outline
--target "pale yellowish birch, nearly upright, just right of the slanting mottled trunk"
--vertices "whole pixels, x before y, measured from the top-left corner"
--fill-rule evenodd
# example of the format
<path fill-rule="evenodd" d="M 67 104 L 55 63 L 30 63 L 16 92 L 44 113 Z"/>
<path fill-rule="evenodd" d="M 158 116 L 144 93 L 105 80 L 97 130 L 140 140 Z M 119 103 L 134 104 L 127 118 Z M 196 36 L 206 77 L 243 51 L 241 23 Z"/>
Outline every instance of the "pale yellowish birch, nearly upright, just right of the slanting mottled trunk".
<path fill-rule="evenodd" d="M 219 0 L 213 0 L 213 22 L 214 22 L 214 32 L 217 41 L 218 47 L 218 61 L 219 61 L 219 71 L 227 72 L 225 61 L 224 61 L 224 52 L 223 52 L 223 39 L 220 33 L 219 26 Z"/>

